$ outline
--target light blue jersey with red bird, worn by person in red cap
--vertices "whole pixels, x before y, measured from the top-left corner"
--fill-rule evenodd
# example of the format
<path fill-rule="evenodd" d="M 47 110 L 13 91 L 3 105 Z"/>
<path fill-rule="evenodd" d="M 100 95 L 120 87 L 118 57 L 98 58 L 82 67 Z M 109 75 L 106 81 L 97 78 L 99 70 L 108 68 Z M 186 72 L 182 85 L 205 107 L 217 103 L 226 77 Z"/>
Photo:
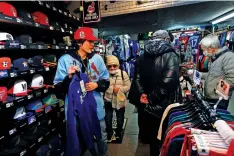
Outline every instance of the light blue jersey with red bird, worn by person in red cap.
<path fill-rule="evenodd" d="M 68 69 L 72 65 L 77 65 L 79 69 L 82 69 L 82 63 L 76 59 L 75 57 L 72 57 L 70 54 L 65 54 L 62 57 L 60 57 L 58 61 L 57 71 L 54 78 L 54 85 L 57 83 L 60 83 L 64 80 L 64 78 L 68 75 Z M 109 72 L 106 68 L 106 65 L 102 59 L 102 57 L 98 54 L 94 54 L 92 58 L 88 61 L 88 69 L 87 74 L 89 75 L 90 81 L 97 82 L 99 80 L 109 80 Z M 104 119 L 105 117 L 105 111 L 104 111 L 104 101 L 101 96 L 100 92 L 93 91 L 94 98 L 97 102 L 97 115 L 99 120 Z M 67 118 L 67 103 L 68 98 L 66 96 L 65 98 L 65 115 Z"/>

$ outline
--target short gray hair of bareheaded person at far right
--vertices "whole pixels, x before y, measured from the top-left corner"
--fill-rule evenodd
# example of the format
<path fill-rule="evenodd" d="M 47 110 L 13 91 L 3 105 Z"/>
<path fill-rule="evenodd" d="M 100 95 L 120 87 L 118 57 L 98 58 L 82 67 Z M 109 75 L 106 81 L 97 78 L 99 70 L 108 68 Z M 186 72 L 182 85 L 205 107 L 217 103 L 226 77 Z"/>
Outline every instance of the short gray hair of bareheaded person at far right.
<path fill-rule="evenodd" d="M 217 35 L 208 35 L 204 37 L 201 40 L 200 45 L 203 45 L 206 48 L 214 48 L 214 49 L 218 49 L 221 47 L 219 37 Z"/>

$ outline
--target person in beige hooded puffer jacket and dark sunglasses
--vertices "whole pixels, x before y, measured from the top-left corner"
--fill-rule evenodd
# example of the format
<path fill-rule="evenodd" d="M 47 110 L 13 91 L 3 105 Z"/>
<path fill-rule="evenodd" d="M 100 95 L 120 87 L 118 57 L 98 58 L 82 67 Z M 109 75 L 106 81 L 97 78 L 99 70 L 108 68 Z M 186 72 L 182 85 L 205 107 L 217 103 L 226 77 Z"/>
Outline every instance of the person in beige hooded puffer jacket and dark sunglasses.
<path fill-rule="evenodd" d="M 106 110 L 106 125 L 107 125 L 107 139 L 109 142 L 113 138 L 112 118 L 113 110 L 115 110 L 117 117 L 116 139 L 122 137 L 122 127 L 124 123 L 124 113 L 127 100 L 125 97 L 124 105 L 119 107 L 116 96 L 119 92 L 126 93 L 130 89 L 130 79 L 128 74 L 119 69 L 119 60 L 114 55 L 106 57 L 106 66 L 110 73 L 110 87 L 106 90 L 104 95 L 105 110 Z M 119 109 L 120 108 L 120 109 Z"/>

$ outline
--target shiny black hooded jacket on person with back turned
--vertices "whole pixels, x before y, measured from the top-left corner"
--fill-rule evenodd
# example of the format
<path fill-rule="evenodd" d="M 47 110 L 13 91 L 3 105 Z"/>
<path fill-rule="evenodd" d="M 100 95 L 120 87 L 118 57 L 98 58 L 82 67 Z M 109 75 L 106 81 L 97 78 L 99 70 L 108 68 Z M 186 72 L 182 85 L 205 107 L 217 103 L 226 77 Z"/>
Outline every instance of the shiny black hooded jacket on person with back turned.
<path fill-rule="evenodd" d="M 164 40 L 151 40 L 136 62 L 134 85 L 138 95 L 146 94 L 149 104 L 145 111 L 160 117 L 164 109 L 181 99 L 179 57 Z M 136 97 L 140 100 L 140 97 Z"/>

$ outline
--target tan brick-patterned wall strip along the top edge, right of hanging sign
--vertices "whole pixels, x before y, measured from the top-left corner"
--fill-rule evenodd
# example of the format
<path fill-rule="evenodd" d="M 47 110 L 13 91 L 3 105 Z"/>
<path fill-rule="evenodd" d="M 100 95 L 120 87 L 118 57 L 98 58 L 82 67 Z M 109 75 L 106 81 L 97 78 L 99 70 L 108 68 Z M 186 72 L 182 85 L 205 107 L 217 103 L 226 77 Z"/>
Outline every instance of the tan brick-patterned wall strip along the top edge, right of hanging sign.
<path fill-rule="evenodd" d="M 102 17 L 128 14 L 140 11 L 148 11 L 160 8 L 167 8 L 179 5 L 192 4 L 192 1 L 177 1 L 177 0 L 143 0 L 138 1 L 101 1 Z"/>

